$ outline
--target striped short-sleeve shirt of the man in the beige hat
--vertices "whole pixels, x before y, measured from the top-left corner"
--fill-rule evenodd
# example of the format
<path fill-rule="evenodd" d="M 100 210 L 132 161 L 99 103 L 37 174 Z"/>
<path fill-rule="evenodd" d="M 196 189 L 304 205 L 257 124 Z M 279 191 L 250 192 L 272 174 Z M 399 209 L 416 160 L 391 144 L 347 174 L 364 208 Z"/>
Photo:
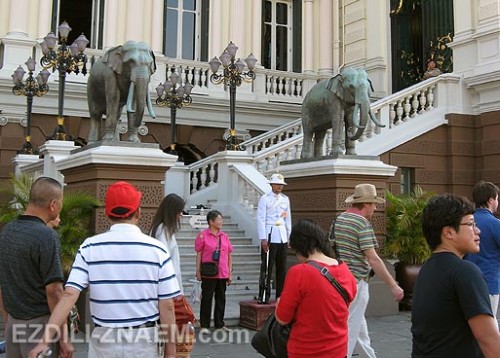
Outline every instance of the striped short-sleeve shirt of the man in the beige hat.
<path fill-rule="evenodd" d="M 356 279 L 367 280 L 370 265 L 363 251 L 378 247 L 370 222 L 354 212 L 346 211 L 335 219 L 335 243 L 340 259 Z"/>

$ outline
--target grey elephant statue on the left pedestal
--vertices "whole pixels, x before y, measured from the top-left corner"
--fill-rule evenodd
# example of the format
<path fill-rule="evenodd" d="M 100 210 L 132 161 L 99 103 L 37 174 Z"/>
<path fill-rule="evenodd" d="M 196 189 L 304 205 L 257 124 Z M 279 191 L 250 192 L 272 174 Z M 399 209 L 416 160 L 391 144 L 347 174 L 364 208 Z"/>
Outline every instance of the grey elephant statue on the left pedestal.
<path fill-rule="evenodd" d="M 149 92 L 149 79 L 156 71 L 153 51 L 145 42 L 127 41 L 110 48 L 90 69 L 87 99 L 90 129 L 87 141 L 119 141 L 118 119 L 127 105 L 129 142 L 140 142 L 138 127 L 142 123 L 144 106 L 155 118 Z M 102 133 L 102 116 L 106 125 Z"/>

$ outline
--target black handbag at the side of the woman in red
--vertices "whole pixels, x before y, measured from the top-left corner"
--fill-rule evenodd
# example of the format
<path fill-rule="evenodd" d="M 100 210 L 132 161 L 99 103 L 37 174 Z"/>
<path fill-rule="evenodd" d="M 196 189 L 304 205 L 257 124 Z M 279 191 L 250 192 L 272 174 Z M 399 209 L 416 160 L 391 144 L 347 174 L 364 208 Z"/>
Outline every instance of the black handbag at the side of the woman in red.
<path fill-rule="evenodd" d="M 254 334 L 252 347 L 266 358 L 287 358 L 286 344 L 291 329 L 291 324 L 285 326 L 279 324 L 273 313 L 267 318 L 264 326 Z"/>

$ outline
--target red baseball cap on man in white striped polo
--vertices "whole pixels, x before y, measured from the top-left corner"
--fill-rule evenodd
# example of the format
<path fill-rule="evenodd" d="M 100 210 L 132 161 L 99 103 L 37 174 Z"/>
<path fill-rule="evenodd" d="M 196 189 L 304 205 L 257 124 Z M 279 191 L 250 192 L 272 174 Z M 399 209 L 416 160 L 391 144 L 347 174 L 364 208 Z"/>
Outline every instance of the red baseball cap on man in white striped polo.
<path fill-rule="evenodd" d="M 106 215 L 114 218 L 126 218 L 136 211 L 141 204 L 142 194 L 135 186 L 125 181 L 117 181 L 108 187 L 106 193 Z M 128 209 L 117 213 L 115 209 Z"/>

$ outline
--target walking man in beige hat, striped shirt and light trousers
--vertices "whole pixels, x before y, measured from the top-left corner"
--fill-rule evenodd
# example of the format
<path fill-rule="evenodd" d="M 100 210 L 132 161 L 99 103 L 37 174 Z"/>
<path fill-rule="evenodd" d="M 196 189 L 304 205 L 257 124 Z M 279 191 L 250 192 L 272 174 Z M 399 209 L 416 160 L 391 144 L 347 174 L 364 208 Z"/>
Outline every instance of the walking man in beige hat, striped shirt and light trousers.
<path fill-rule="evenodd" d="M 334 220 L 330 237 L 335 242 L 337 255 L 349 266 L 354 277 L 358 280 L 358 293 L 349 307 L 347 357 L 352 356 L 356 343 L 358 343 L 366 356 L 374 358 L 376 356 L 370 345 L 365 319 L 369 300 L 370 269 L 373 269 L 389 286 L 395 301 L 400 301 L 403 298 L 403 289 L 392 278 L 384 262 L 375 251 L 378 248 L 378 242 L 368 221 L 377 204 L 385 203 L 385 200 L 377 196 L 374 185 L 358 184 L 354 189 L 354 194 L 349 196 L 345 202 L 351 204 L 351 208 Z"/>

